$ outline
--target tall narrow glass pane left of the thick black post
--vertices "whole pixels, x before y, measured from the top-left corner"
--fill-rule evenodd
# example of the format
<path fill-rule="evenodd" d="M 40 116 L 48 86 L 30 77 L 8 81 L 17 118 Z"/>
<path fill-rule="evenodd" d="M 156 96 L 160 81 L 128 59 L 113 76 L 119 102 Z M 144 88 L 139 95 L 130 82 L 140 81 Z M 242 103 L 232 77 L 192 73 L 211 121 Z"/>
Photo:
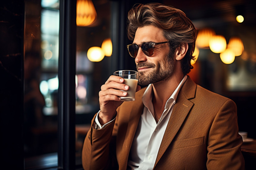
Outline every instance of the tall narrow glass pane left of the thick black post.
<path fill-rule="evenodd" d="M 58 165 L 59 1 L 25 4 L 25 169 L 49 168 Z"/>

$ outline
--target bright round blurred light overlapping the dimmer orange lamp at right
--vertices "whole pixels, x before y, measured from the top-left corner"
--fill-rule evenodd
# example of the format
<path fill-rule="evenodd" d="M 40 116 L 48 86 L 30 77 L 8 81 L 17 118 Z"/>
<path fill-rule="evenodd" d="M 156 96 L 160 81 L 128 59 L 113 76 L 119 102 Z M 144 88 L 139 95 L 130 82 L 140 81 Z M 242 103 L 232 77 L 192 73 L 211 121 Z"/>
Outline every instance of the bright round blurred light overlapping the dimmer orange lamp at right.
<path fill-rule="evenodd" d="M 209 47 L 214 53 L 222 53 L 226 49 L 226 39 L 223 35 L 214 35 L 209 40 Z"/>

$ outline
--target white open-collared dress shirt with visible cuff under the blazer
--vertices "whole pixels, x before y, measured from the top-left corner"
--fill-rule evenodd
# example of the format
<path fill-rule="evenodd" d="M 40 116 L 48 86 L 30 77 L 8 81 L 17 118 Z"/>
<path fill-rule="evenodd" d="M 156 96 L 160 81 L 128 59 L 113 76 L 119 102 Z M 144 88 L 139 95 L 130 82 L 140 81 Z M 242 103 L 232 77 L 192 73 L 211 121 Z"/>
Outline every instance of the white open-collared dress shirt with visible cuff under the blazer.
<path fill-rule="evenodd" d="M 164 136 L 167 123 L 170 119 L 173 106 L 180 91 L 185 83 L 187 76 L 185 75 L 180 84 L 174 90 L 173 94 L 167 100 L 164 112 L 158 123 L 154 118 L 154 108 L 152 104 L 152 84 L 149 84 L 142 96 L 144 109 L 136 129 L 133 143 L 129 153 L 127 169 L 132 170 L 150 170 L 154 168 L 158 150 Z M 112 120 L 114 121 L 114 120 Z M 111 122 L 112 122 L 111 121 Z M 104 128 L 108 123 L 101 127 L 98 122 L 98 115 L 95 118 L 96 129 Z M 110 122 L 109 122 L 110 123 Z"/>

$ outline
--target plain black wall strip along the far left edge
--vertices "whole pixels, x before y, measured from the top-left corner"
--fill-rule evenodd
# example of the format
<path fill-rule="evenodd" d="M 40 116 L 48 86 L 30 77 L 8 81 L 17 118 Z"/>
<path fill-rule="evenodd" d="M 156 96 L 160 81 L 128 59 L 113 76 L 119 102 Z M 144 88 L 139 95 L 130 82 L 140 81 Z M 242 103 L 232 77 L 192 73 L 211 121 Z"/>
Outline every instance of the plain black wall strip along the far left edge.
<path fill-rule="evenodd" d="M 24 1 L 0 5 L 1 168 L 23 169 Z"/>

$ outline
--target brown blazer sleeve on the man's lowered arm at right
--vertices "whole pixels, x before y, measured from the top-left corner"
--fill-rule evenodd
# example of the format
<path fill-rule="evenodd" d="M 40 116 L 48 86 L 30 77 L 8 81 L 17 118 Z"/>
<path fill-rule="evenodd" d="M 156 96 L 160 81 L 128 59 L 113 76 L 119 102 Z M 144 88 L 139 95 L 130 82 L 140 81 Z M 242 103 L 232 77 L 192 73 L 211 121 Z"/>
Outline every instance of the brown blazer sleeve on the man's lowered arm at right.
<path fill-rule="evenodd" d="M 207 169 L 245 169 L 241 152 L 242 137 L 238 134 L 236 104 L 227 100 L 220 107 L 208 136 Z"/>

